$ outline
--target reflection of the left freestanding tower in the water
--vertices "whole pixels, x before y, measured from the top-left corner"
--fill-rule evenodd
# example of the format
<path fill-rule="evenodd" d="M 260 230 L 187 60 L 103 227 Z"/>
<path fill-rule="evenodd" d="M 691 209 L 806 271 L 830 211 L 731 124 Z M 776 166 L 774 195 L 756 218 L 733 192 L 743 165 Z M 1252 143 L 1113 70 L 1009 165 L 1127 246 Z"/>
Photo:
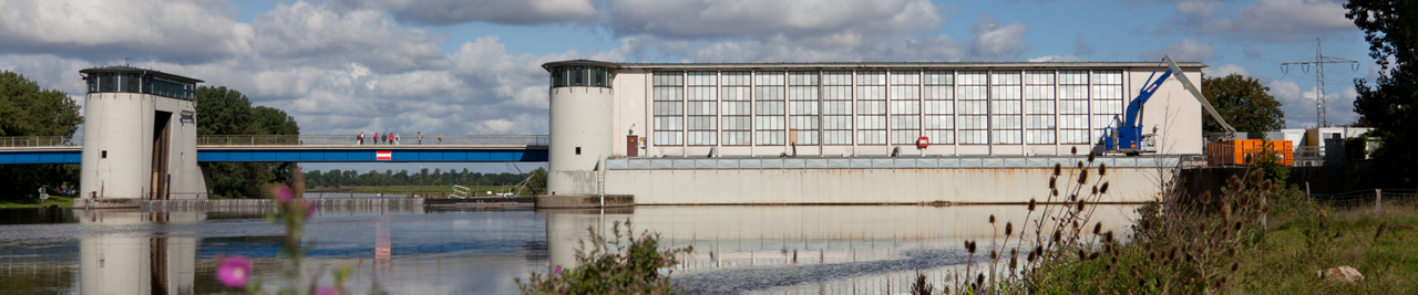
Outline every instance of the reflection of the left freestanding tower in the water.
<path fill-rule="evenodd" d="M 206 212 L 145 213 L 136 209 L 77 209 L 86 226 L 155 226 L 197 223 Z M 194 233 L 153 231 L 150 236 L 86 230 L 79 239 L 79 284 L 84 294 L 193 294 L 197 237 Z"/>

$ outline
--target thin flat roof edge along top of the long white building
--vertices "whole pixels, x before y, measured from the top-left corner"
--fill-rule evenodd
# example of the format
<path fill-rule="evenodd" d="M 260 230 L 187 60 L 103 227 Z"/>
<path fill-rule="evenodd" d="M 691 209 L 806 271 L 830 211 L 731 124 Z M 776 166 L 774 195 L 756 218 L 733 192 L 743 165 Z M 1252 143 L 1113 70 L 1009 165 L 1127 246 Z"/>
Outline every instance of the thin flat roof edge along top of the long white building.
<path fill-rule="evenodd" d="M 994 69 L 994 68 L 1167 68 L 1157 62 L 601 62 L 590 59 L 559 61 L 543 64 L 542 68 L 557 65 L 603 65 L 620 69 L 891 69 L 891 68 L 950 68 L 950 69 Z M 1207 68 L 1201 62 L 1177 62 L 1183 68 Z"/>

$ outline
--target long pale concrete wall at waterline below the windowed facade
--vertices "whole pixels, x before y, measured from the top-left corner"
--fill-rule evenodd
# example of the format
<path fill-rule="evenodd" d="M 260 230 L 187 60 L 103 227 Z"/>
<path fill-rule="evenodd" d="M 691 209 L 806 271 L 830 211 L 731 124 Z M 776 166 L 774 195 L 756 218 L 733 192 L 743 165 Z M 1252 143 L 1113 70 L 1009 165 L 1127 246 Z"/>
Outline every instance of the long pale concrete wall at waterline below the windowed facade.
<path fill-rule="evenodd" d="M 1064 169 L 1072 183 L 1079 169 Z M 1103 202 L 1146 202 L 1176 168 L 1109 168 Z M 605 193 L 634 195 L 637 205 L 752 203 L 1027 203 L 1049 195 L 1048 168 L 896 169 L 611 169 Z M 1066 192 L 1062 192 L 1066 195 Z"/>

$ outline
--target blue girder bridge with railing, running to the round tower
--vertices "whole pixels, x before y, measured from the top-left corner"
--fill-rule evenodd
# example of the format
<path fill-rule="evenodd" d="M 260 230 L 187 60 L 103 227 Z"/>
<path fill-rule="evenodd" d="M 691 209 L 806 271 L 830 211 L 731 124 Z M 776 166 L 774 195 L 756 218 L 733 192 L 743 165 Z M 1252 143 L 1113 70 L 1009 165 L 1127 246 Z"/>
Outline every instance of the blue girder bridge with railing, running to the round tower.
<path fill-rule="evenodd" d="M 546 162 L 550 136 L 199 136 L 197 162 Z M 79 164 L 82 137 L 0 137 L 0 165 Z"/>

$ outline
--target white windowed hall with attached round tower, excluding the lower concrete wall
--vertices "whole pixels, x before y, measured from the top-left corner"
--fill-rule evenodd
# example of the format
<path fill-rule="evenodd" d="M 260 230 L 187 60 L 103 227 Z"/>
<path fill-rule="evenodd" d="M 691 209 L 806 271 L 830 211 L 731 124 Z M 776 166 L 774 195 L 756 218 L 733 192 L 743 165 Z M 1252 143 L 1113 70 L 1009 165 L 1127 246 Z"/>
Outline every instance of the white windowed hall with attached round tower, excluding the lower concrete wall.
<path fill-rule="evenodd" d="M 1201 80 L 1205 65 L 1180 66 L 1184 73 L 1174 75 Z M 634 169 L 638 158 L 828 159 L 820 168 L 832 169 L 891 157 L 922 164 L 889 168 L 919 169 L 947 168 L 942 161 L 954 158 L 986 158 L 981 168 L 988 168 L 990 158 L 1100 151 L 1100 138 L 1129 100 L 1149 76 L 1167 69 L 1160 62 L 584 59 L 543 68 L 552 78 L 549 189 L 593 195 L 641 189 L 617 188 L 624 179 L 611 179 L 617 168 Z M 1157 154 L 1202 152 L 1201 104 L 1180 83 L 1164 83 L 1140 116 L 1140 126 L 1156 134 Z M 832 159 L 845 164 L 834 167 Z M 712 169 L 723 165 L 774 169 L 763 161 Z M 637 195 L 637 203 L 654 199 Z"/>

